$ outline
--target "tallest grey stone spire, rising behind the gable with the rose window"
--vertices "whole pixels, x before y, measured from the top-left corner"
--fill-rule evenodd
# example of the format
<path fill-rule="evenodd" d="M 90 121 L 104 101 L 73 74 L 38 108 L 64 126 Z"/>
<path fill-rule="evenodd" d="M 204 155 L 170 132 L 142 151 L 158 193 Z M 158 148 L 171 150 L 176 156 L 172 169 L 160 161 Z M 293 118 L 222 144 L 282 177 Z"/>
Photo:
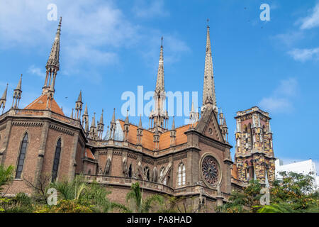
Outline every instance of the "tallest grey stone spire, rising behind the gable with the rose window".
<path fill-rule="evenodd" d="M 218 111 L 216 106 L 213 60 L 211 54 L 211 38 L 209 34 L 209 26 L 207 25 L 205 71 L 203 81 L 203 106 L 207 106 L 208 104 L 211 104 L 216 112 Z"/>

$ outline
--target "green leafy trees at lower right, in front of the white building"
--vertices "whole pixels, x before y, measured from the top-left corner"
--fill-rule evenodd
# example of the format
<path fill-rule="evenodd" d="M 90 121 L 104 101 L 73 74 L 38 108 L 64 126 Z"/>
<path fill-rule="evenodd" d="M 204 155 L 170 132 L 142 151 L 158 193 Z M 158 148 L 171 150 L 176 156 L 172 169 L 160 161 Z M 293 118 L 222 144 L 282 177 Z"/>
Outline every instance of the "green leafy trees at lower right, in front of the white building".
<path fill-rule="evenodd" d="M 257 213 L 319 213 L 319 192 L 313 192 L 311 175 L 281 172 L 282 179 L 272 182 L 270 204 L 262 206 L 261 185 L 251 181 L 243 192 L 232 192 L 229 202 L 218 207 L 219 212 Z"/>

